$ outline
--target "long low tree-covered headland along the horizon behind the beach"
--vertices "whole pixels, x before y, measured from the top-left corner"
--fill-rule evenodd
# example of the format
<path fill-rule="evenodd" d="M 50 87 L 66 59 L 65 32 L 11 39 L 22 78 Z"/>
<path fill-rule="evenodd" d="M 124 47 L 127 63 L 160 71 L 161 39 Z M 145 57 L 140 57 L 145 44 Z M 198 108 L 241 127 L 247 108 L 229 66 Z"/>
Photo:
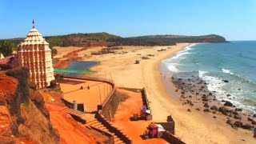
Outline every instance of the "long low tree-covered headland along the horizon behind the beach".
<path fill-rule="evenodd" d="M 171 46 L 178 42 L 226 42 L 226 39 L 216 34 L 202 36 L 185 35 L 148 35 L 122 38 L 107 33 L 67 34 L 45 37 L 52 46 Z M 23 38 L 13 38 L 18 44 Z"/>

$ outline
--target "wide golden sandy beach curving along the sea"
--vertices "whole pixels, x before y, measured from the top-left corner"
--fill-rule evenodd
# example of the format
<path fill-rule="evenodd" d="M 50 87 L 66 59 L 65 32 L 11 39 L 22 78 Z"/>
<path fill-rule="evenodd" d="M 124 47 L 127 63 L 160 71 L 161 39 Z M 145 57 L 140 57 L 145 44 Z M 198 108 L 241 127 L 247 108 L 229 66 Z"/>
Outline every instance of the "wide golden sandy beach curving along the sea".
<path fill-rule="evenodd" d="M 187 112 L 188 106 L 182 106 L 175 93 L 167 93 L 162 81 L 159 65 L 163 59 L 175 54 L 188 43 L 177 46 L 123 46 L 118 54 L 104 54 L 83 58 L 85 61 L 98 61 L 100 64 L 91 70 L 95 73 L 85 75 L 112 78 L 116 86 L 146 88 L 155 122 L 166 122 L 172 115 L 175 122 L 175 135 L 186 143 L 255 143 L 251 131 L 234 130 L 221 118 L 202 112 Z M 168 47 L 171 47 L 168 49 Z M 157 51 L 166 49 L 164 51 Z M 141 54 L 141 55 L 139 55 Z M 142 59 L 146 54 L 154 54 L 150 59 Z M 87 50 L 78 55 L 90 55 Z M 139 60 L 140 64 L 134 64 Z M 172 87 L 174 89 L 174 87 Z M 177 95 L 177 94 L 176 94 Z M 245 141 L 243 141 L 245 140 Z"/>

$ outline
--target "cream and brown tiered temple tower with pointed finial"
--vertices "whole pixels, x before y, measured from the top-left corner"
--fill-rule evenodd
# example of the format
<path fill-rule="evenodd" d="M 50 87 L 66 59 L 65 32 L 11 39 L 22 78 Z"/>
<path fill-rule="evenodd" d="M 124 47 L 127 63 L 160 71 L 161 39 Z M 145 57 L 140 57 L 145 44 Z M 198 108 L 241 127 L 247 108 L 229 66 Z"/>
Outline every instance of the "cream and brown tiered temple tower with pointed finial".
<path fill-rule="evenodd" d="M 50 81 L 54 80 L 54 68 L 49 43 L 34 28 L 34 20 L 30 33 L 18 45 L 18 62 L 20 66 L 29 68 L 30 81 L 38 89 L 50 86 Z"/>

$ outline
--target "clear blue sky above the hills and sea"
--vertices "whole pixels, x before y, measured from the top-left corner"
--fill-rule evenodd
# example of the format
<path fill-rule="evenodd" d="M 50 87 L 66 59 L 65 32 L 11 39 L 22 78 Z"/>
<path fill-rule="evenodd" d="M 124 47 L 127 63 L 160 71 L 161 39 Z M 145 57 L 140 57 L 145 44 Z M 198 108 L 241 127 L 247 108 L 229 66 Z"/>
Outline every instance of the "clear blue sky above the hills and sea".
<path fill-rule="evenodd" d="M 256 40 L 256 0 L 0 0 L 0 38 L 107 32 Z"/>

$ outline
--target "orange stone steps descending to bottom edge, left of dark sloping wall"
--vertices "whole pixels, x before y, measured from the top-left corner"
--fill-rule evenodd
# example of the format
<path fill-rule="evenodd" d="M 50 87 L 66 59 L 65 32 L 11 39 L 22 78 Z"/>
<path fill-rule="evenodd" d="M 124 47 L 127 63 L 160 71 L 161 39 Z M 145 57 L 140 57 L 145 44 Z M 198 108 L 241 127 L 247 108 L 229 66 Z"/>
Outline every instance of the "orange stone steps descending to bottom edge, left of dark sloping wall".
<path fill-rule="evenodd" d="M 102 124 L 102 122 L 99 122 L 97 119 L 94 119 L 93 121 L 90 121 L 90 122 L 86 122 L 85 126 L 89 129 L 101 130 L 101 131 L 105 132 L 106 134 L 113 135 L 114 136 L 114 144 L 125 144 L 125 142 L 123 142 L 120 138 L 118 138 L 118 136 L 116 134 L 110 132 L 110 130 L 108 130 L 106 128 L 106 126 L 104 126 Z"/>

